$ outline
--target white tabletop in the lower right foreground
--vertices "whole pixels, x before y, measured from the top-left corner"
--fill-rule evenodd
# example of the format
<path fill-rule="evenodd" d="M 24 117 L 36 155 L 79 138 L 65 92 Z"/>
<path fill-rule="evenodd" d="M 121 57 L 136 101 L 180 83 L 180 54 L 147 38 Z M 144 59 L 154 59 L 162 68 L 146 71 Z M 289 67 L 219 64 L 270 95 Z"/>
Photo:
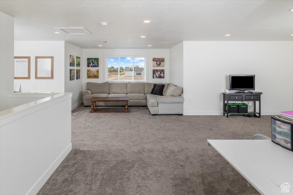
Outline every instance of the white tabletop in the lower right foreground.
<path fill-rule="evenodd" d="M 271 140 L 207 140 L 260 194 L 293 194 L 293 152 Z M 281 185 L 289 183 L 289 193 Z"/>

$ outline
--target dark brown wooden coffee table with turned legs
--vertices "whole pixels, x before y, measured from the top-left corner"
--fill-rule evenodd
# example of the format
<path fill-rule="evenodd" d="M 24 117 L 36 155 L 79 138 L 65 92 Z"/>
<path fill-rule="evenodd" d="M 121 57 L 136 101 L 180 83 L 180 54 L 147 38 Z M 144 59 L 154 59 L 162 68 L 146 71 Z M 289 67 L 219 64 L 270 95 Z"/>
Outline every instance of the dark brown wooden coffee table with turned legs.
<path fill-rule="evenodd" d="M 90 99 L 91 101 L 91 111 L 90 113 L 127 113 L 128 110 L 128 101 L 129 97 L 93 97 Z M 96 108 L 97 101 L 125 101 L 125 109 L 124 108 Z"/>

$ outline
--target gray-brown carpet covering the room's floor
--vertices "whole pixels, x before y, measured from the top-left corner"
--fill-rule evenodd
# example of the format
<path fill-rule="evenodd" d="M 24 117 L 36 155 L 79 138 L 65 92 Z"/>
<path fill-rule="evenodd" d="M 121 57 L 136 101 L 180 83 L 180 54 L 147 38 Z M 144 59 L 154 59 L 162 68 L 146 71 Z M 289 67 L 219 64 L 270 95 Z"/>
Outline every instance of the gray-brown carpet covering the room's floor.
<path fill-rule="evenodd" d="M 207 139 L 270 137 L 270 116 L 152 116 L 72 111 L 72 151 L 44 194 L 259 194 Z"/>

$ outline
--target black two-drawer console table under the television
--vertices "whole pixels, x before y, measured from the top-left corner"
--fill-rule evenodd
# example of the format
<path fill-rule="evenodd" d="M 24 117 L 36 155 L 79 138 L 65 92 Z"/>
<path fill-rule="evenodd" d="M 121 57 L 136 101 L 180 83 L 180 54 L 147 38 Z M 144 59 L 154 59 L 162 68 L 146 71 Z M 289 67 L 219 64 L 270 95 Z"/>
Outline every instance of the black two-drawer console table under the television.
<path fill-rule="evenodd" d="M 222 94 L 223 94 L 223 116 L 225 116 L 226 114 L 227 117 L 229 117 L 229 101 L 253 101 L 254 111 L 248 112 L 248 115 L 253 115 L 254 117 L 260 118 L 260 95 L 263 94 L 262 92 L 256 92 L 256 93 L 251 93 L 251 92 L 224 93 L 223 92 Z M 225 112 L 225 101 L 227 101 L 227 112 Z M 255 111 L 256 101 L 259 102 L 258 112 Z M 236 114 L 232 114 L 232 115 L 236 115 Z M 239 115 L 243 115 L 243 114 L 239 114 Z"/>

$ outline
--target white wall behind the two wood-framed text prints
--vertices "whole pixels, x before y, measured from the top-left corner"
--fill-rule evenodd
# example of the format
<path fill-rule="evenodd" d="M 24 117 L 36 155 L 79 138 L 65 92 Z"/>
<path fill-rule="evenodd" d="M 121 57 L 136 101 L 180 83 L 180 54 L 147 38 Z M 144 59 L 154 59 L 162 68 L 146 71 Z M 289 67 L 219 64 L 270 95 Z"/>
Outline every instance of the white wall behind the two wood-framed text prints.
<path fill-rule="evenodd" d="M 21 92 L 64 92 L 64 41 L 15 41 L 14 56 L 30 56 L 30 79 L 15 79 Z M 35 56 L 53 56 L 54 79 L 35 79 Z"/>

